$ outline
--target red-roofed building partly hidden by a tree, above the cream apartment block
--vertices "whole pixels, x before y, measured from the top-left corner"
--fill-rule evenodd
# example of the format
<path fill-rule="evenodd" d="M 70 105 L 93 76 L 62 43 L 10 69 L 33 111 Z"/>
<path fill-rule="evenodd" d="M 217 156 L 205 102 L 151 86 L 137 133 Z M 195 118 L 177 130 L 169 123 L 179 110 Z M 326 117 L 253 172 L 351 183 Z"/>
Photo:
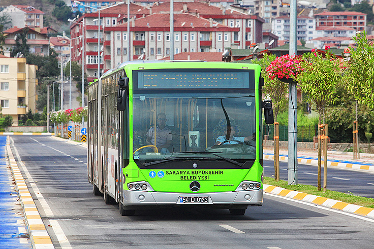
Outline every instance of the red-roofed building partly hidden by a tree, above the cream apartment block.
<path fill-rule="evenodd" d="M 12 27 L 4 31 L 5 36 L 5 50 L 10 51 L 16 46 L 17 35 L 23 34 L 27 29 L 26 39 L 27 44 L 30 47 L 29 52 L 33 54 L 43 54 L 49 55 L 49 32 L 55 32 L 49 27 L 23 27 L 19 28 L 17 26 Z"/>

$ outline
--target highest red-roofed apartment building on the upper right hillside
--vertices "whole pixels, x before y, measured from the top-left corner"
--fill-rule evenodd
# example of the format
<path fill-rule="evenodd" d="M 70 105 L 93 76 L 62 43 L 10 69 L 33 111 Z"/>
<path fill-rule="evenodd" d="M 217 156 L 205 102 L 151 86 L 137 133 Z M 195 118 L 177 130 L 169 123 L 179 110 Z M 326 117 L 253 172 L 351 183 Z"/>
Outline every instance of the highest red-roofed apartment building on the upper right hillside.
<path fill-rule="evenodd" d="M 356 31 L 366 29 L 366 14 L 354 11 L 324 11 L 314 14 L 317 27 L 351 27 Z"/>

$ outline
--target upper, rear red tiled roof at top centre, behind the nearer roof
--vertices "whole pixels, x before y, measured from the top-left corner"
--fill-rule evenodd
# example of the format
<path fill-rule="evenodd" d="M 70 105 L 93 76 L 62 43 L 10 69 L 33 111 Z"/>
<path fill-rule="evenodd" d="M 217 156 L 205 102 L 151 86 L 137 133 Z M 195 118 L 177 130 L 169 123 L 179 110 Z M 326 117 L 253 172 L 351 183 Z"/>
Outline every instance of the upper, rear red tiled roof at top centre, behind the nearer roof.
<path fill-rule="evenodd" d="M 223 10 L 219 7 L 209 6 L 200 2 L 174 2 L 174 13 L 183 12 L 183 4 L 187 5 L 188 12 L 200 12 L 201 15 L 223 15 Z M 152 13 L 170 13 L 170 1 L 168 3 L 162 3 L 159 5 L 152 6 Z M 144 9 L 139 14 L 149 14 L 149 9 Z M 226 15 L 246 15 L 242 12 L 238 12 L 232 9 L 226 10 Z"/>

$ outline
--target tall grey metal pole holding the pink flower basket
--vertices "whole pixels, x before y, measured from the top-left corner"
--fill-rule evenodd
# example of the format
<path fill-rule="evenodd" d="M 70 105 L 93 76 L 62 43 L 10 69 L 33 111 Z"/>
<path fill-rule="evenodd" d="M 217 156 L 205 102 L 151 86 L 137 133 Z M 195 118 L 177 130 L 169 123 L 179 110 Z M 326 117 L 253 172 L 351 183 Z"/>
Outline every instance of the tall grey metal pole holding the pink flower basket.
<path fill-rule="evenodd" d="M 290 1 L 290 56 L 296 51 L 296 0 Z M 297 88 L 288 86 L 288 184 L 297 184 Z"/>

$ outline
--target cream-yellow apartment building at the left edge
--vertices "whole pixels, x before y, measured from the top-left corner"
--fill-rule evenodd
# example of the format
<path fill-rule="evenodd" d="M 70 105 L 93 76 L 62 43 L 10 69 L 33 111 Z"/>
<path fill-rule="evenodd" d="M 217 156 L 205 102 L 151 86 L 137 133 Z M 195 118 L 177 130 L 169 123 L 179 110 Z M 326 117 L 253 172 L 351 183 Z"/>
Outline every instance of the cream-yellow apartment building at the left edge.
<path fill-rule="evenodd" d="M 3 115 L 11 115 L 13 125 L 18 125 L 19 115 L 28 110 L 35 113 L 36 65 L 26 64 L 26 58 L 0 55 L 0 104 Z"/>

